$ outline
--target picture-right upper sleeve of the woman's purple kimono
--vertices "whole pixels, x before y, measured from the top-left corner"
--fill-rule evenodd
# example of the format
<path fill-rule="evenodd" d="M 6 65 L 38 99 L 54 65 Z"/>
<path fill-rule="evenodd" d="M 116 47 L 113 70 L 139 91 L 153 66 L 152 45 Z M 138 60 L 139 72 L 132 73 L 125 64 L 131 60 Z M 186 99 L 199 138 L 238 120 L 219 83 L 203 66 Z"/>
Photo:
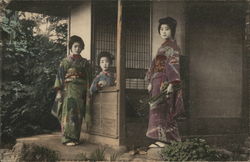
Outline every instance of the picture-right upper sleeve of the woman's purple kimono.
<path fill-rule="evenodd" d="M 180 50 L 174 50 L 166 63 L 166 75 L 169 83 L 180 83 Z"/>

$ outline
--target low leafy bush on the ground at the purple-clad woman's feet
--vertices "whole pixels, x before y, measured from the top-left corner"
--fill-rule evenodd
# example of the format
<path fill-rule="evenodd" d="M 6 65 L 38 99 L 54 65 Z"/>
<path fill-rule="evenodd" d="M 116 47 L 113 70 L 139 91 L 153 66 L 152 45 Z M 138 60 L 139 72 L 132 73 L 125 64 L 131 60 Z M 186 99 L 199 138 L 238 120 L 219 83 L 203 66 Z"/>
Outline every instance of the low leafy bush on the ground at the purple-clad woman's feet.
<path fill-rule="evenodd" d="M 184 142 L 171 142 L 161 151 L 167 161 L 221 161 L 229 157 L 211 148 L 204 139 L 192 138 Z"/>

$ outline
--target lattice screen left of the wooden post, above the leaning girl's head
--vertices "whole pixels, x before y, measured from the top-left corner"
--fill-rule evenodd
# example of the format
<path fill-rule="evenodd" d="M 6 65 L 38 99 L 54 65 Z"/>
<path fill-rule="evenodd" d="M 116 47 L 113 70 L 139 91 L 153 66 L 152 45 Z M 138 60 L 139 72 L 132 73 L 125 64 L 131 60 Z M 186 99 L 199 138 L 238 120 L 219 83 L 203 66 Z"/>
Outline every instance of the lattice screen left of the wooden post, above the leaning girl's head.
<path fill-rule="evenodd" d="M 95 2 L 92 8 L 93 53 L 91 59 L 92 64 L 97 66 L 100 52 L 110 52 L 116 58 L 117 2 Z M 112 66 L 116 66 L 115 61 Z"/>

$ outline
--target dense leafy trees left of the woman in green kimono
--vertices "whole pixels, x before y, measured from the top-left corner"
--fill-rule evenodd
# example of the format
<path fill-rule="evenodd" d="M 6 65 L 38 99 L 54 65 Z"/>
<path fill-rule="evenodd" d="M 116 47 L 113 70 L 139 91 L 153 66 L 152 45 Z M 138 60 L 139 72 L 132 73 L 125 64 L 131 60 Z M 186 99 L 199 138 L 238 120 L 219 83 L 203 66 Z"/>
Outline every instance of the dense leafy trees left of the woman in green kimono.
<path fill-rule="evenodd" d="M 57 67 L 66 55 L 67 24 L 64 18 L 6 10 L 0 3 L 0 133 L 9 143 L 59 128 L 50 110 Z"/>

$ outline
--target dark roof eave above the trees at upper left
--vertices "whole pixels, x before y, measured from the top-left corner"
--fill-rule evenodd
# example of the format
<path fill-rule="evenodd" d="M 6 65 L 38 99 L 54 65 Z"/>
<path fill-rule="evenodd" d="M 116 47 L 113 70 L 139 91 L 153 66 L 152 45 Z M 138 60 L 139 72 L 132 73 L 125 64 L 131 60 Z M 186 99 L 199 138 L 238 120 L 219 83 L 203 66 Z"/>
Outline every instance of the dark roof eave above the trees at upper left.
<path fill-rule="evenodd" d="M 10 0 L 7 9 L 67 17 L 71 6 L 90 0 Z"/>

